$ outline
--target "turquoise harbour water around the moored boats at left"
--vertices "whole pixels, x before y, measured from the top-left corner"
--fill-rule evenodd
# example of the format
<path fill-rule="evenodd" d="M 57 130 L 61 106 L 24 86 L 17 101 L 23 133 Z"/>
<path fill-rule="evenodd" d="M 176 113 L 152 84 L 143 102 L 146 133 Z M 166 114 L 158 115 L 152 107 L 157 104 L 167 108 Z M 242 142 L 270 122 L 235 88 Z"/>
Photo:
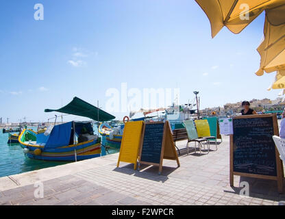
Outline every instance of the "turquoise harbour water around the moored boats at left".
<path fill-rule="evenodd" d="M 36 127 L 33 127 L 33 129 L 36 130 Z M 97 133 L 97 127 L 95 127 L 95 134 Z M 70 163 L 30 159 L 29 157 L 25 156 L 20 144 L 8 144 L 8 138 L 9 133 L 3 133 L 2 129 L 0 129 L 0 177 Z M 102 140 L 102 144 L 105 145 L 104 138 Z M 108 153 L 110 154 L 118 152 L 119 150 L 115 149 L 108 150 Z"/>

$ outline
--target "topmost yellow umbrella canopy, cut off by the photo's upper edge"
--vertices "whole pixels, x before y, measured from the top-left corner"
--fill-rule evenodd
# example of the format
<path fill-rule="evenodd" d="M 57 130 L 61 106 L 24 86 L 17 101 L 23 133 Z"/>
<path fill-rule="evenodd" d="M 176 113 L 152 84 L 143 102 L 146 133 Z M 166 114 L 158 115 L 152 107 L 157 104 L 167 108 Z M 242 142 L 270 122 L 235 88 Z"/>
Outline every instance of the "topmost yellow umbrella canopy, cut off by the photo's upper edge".
<path fill-rule="evenodd" d="M 264 10 L 285 5 L 284 0 L 195 0 L 207 14 L 212 37 L 226 26 L 234 34 L 243 31 Z M 282 11 L 282 10 L 281 10 Z M 284 11 L 283 11 L 284 12 Z M 275 19 L 275 14 L 271 14 Z"/>

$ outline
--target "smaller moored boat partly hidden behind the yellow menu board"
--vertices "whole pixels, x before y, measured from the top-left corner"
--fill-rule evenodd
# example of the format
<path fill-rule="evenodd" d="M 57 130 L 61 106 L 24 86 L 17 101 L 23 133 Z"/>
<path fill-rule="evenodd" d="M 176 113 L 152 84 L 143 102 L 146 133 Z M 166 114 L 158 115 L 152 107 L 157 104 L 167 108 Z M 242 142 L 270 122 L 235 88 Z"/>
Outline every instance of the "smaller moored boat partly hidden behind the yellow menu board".
<path fill-rule="evenodd" d="M 123 138 L 123 126 L 113 128 L 108 123 L 101 123 L 99 126 L 99 133 L 101 136 L 106 136 L 106 144 L 111 149 L 120 149 Z"/>

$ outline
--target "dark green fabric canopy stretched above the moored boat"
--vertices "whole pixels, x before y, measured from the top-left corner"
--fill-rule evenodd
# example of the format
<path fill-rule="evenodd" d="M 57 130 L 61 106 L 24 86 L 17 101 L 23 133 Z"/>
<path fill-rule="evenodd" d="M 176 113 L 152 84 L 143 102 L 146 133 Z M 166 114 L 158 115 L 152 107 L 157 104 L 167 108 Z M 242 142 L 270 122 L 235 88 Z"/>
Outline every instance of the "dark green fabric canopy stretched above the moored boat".
<path fill-rule="evenodd" d="M 98 118 L 98 110 L 99 110 L 99 118 Z M 45 112 L 62 112 L 64 114 L 72 114 L 76 116 L 84 116 L 87 118 L 91 118 L 92 120 L 96 120 L 99 122 L 105 122 L 116 118 L 108 112 L 98 109 L 94 105 L 83 101 L 75 96 L 71 103 L 67 104 L 66 106 L 58 109 L 58 110 L 49 110 L 46 109 Z"/>

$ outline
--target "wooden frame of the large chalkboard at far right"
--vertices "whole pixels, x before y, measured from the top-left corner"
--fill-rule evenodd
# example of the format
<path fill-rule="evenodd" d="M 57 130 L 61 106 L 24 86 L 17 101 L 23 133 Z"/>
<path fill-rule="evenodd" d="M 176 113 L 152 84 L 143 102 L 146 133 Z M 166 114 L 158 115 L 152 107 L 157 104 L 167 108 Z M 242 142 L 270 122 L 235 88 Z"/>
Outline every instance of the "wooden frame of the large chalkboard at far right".
<path fill-rule="evenodd" d="M 275 114 L 266 115 L 248 115 L 248 116 L 234 116 L 236 118 L 273 118 L 273 130 L 274 135 L 279 136 L 277 116 Z M 253 177 L 258 179 L 272 179 L 277 181 L 278 192 L 283 193 L 283 179 L 284 168 L 283 162 L 280 159 L 280 154 L 275 146 L 275 158 L 276 158 L 276 173 L 277 176 L 257 175 L 245 172 L 234 172 L 234 135 L 230 135 L 230 186 L 234 186 L 234 175 L 240 177 Z"/>

